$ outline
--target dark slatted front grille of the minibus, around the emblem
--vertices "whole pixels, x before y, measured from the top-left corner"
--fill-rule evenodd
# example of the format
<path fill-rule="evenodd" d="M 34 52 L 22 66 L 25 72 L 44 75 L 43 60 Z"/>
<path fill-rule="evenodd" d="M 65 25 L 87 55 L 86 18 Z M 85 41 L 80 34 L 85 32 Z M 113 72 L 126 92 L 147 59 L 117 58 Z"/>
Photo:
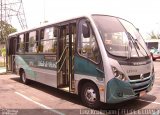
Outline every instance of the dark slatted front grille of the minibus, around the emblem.
<path fill-rule="evenodd" d="M 144 74 L 143 79 L 138 78 L 138 79 L 130 80 L 130 84 L 133 88 L 133 91 L 136 93 L 136 95 L 139 94 L 141 91 L 145 91 L 149 87 L 151 83 L 150 78 L 151 78 L 150 73 L 146 73 Z"/>

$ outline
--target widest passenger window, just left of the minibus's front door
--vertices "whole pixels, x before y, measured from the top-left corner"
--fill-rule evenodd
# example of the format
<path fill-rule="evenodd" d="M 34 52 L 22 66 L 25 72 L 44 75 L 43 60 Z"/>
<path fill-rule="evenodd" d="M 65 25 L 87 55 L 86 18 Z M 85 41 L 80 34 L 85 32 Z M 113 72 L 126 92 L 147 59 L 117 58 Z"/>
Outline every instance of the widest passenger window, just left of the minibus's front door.
<path fill-rule="evenodd" d="M 40 52 L 56 54 L 57 36 L 56 28 L 50 27 L 41 30 Z"/>

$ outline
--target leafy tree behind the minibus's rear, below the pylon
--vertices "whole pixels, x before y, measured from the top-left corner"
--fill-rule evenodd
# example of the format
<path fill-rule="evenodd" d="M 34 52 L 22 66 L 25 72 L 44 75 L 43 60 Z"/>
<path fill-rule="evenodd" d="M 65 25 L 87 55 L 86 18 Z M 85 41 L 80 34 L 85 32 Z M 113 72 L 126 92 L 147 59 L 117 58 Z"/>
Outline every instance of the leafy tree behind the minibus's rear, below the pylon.
<path fill-rule="evenodd" d="M 17 29 L 15 29 L 12 25 L 7 22 L 0 21 L 0 42 L 5 43 L 8 35 L 16 31 Z"/>

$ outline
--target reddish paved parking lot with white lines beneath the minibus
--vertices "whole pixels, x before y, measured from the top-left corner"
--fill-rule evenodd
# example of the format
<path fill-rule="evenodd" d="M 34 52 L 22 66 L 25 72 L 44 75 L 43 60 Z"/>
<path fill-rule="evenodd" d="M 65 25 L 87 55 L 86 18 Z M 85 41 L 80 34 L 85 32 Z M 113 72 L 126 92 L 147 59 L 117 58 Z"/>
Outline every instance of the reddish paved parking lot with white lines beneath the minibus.
<path fill-rule="evenodd" d="M 78 96 L 32 82 L 24 85 L 13 74 L 0 76 L 0 115 L 15 113 L 25 115 L 78 115 L 78 114 L 160 114 L 160 61 L 154 62 L 156 78 L 153 90 L 147 95 L 120 104 L 103 104 L 107 111 L 89 110 Z M 119 115 L 121 115 L 119 114 Z M 6 114 L 4 114 L 6 115 Z"/>

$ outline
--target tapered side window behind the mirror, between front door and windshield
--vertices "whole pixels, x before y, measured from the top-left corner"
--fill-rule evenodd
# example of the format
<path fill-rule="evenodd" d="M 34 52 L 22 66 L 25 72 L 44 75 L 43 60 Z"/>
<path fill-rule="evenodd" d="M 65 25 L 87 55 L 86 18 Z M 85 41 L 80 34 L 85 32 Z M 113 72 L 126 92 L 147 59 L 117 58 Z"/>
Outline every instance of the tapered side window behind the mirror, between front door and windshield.
<path fill-rule="evenodd" d="M 88 58 L 95 63 L 100 62 L 100 52 L 96 37 L 91 25 L 86 20 L 81 20 L 79 25 L 78 52 L 81 56 Z"/>

